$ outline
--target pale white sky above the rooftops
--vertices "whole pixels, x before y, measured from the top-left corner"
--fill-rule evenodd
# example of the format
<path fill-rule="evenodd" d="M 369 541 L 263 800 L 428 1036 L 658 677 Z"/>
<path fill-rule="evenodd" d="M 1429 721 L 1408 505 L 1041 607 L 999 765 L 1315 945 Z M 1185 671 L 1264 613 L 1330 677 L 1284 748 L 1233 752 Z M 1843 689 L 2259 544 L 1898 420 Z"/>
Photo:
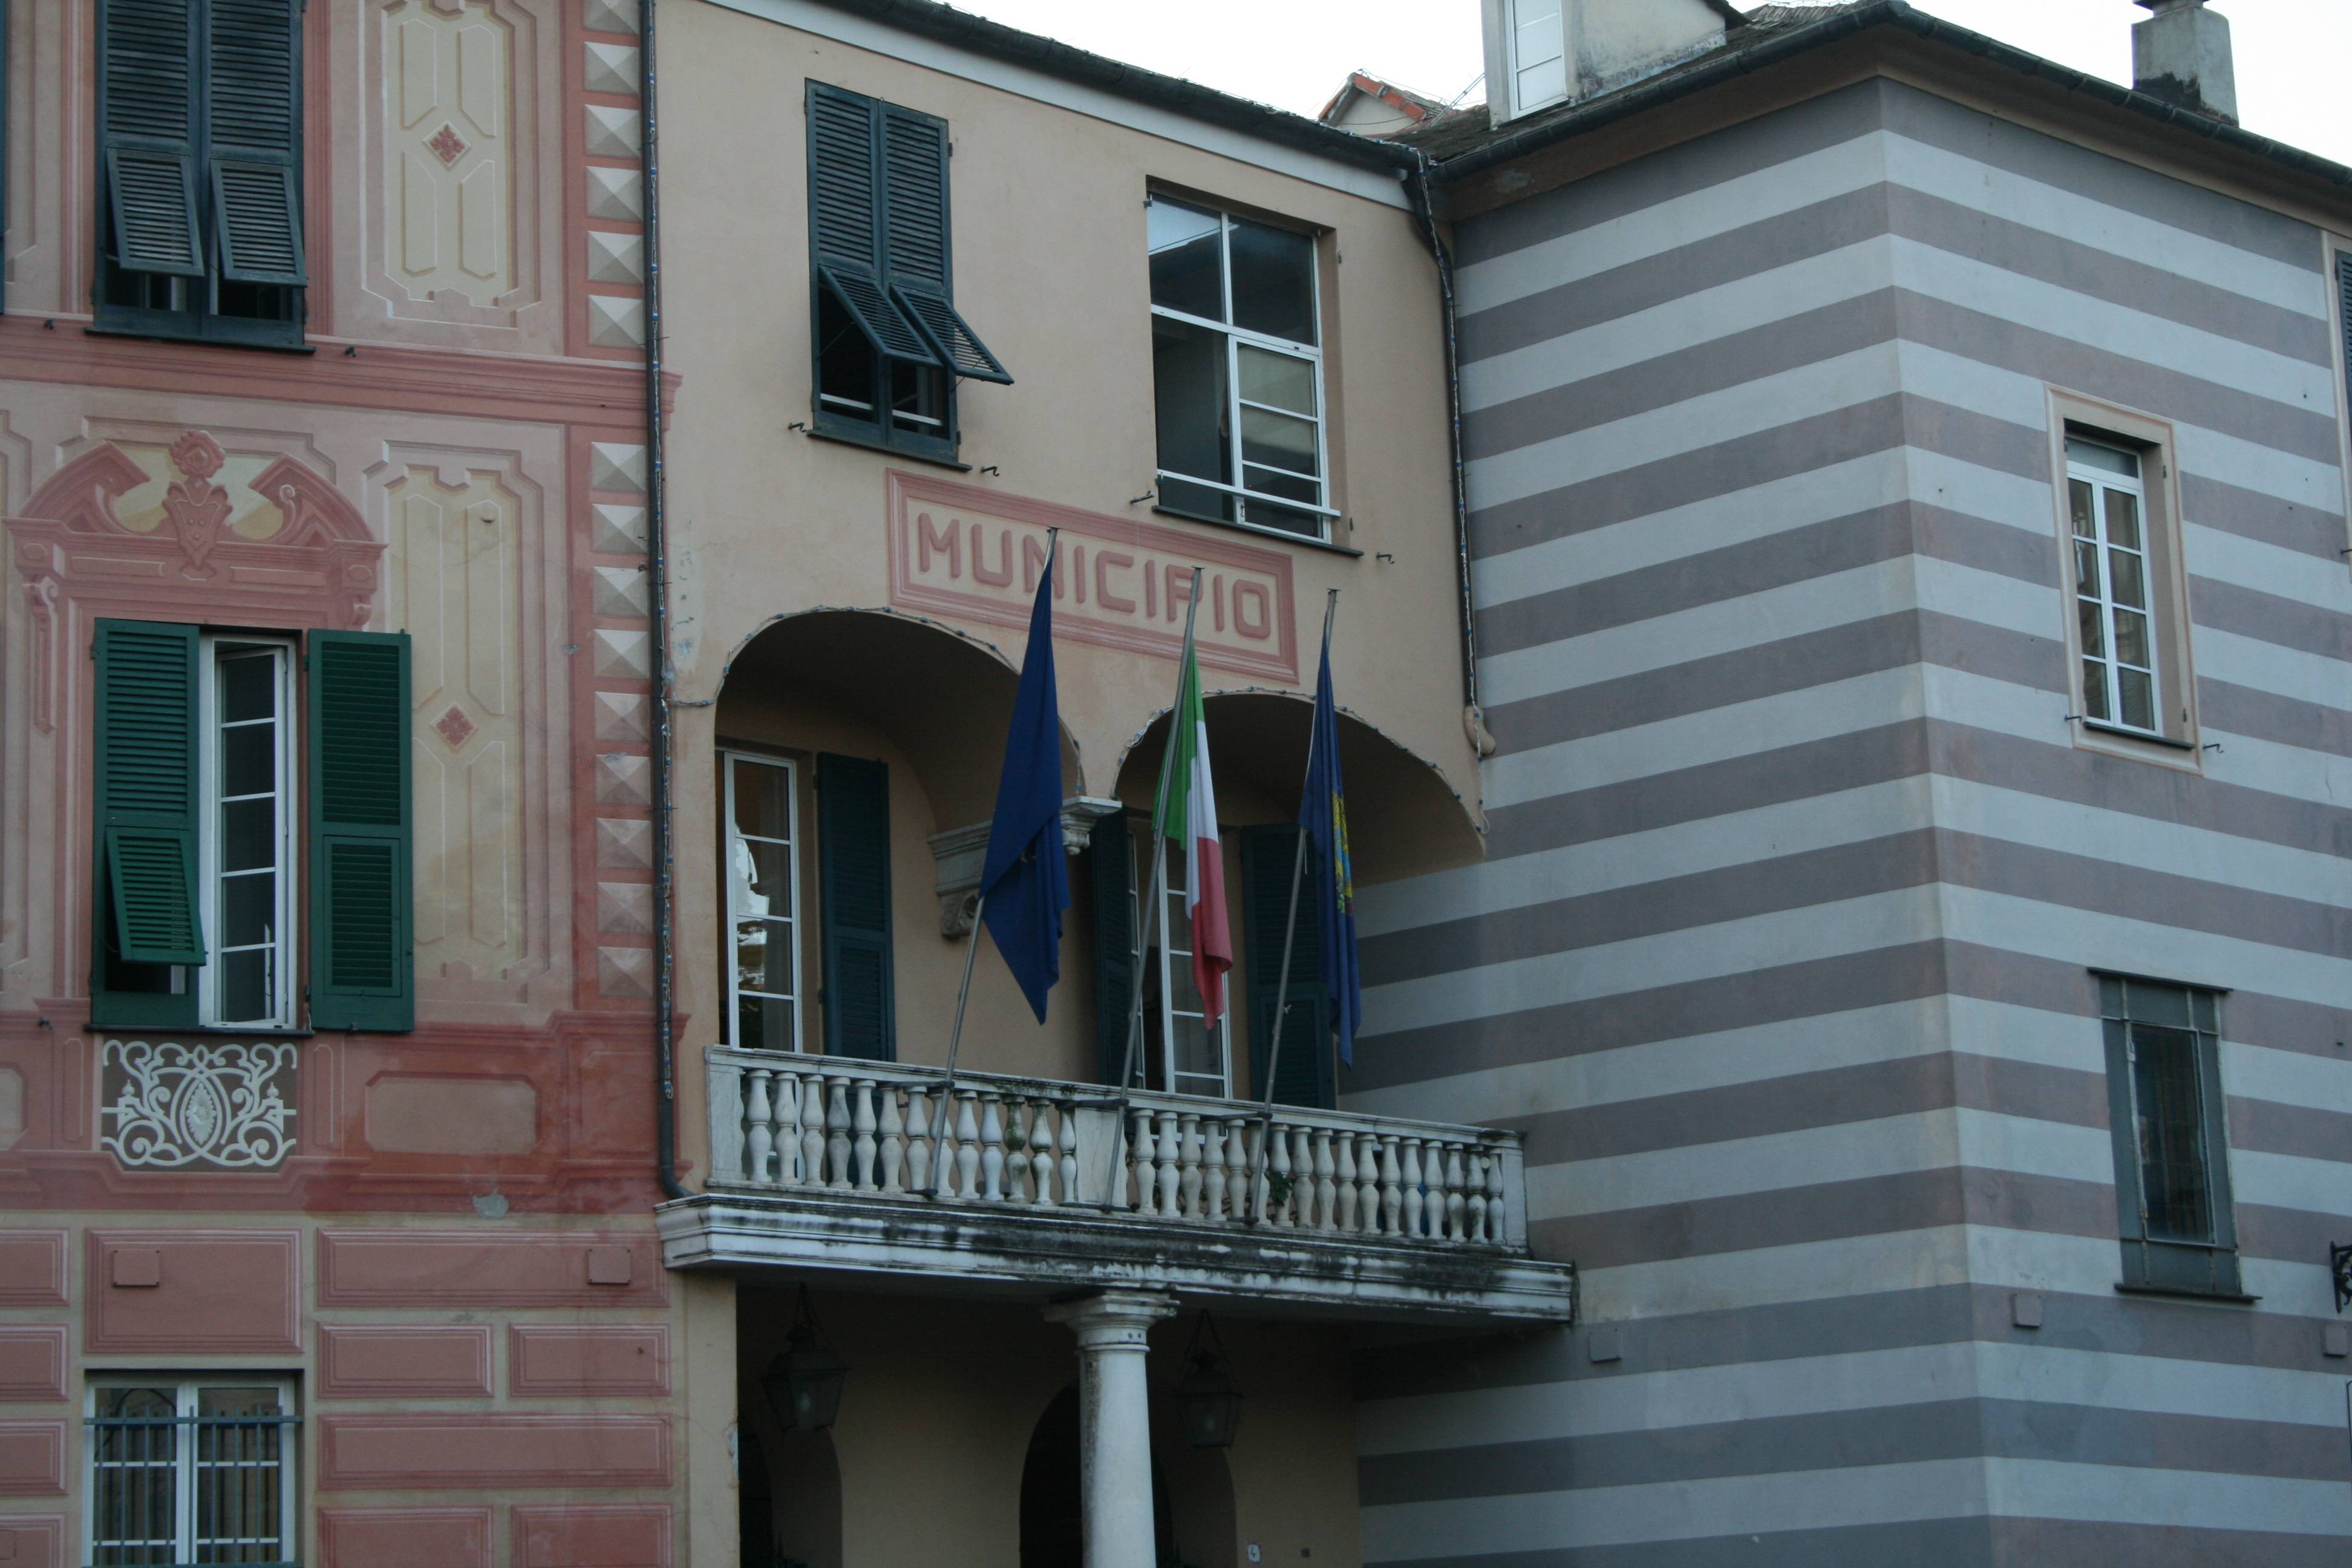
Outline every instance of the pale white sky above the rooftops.
<path fill-rule="evenodd" d="M 955 0 L 1007 26 L 1312 115 L 1350 71 L 1439 99 L 1479 75 L 1477 0 Z M 1752 0 L 1733 0 L 1750 5 Z M 1912 0 L 2046 59 L 2131 80 L 2133 0 Z M 2352 165 L 2352 0 L 2218 0 L 2246 129 Z"/>

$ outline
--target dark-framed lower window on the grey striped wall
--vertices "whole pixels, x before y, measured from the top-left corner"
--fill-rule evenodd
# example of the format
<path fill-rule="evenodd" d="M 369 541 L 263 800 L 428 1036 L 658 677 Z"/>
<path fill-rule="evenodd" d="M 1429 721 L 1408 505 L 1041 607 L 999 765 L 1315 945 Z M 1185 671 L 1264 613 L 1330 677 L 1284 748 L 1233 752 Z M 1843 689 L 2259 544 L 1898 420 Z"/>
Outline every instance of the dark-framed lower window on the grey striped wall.
<path fill-rule="evenodd" d="M 2124 1286 L 2237 1295 L 2220 999 L 2100 976 Z"/>

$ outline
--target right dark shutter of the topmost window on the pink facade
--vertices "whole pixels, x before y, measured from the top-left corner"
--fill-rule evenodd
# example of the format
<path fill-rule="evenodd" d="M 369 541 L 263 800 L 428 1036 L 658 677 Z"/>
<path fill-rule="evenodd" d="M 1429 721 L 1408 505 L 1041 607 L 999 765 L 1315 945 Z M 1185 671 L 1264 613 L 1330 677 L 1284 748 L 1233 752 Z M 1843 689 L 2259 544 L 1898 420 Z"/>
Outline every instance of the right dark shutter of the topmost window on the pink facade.
<path fill-rule="evenodd" d="M 301 287 L 301 0 L 212 0 L 205 134 L 221 277 Z"/>

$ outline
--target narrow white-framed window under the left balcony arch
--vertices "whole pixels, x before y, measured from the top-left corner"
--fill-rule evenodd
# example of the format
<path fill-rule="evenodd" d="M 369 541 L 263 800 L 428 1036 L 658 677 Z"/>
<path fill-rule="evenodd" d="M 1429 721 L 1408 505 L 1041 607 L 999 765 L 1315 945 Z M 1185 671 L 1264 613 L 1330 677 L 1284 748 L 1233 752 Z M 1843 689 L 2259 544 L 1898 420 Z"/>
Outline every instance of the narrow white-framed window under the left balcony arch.
<path fill-rule="evenodd" d="M 727 769 L 727 1016 L 736 1048 L 800 1048 L 800 773 L 720 752 Z"/>

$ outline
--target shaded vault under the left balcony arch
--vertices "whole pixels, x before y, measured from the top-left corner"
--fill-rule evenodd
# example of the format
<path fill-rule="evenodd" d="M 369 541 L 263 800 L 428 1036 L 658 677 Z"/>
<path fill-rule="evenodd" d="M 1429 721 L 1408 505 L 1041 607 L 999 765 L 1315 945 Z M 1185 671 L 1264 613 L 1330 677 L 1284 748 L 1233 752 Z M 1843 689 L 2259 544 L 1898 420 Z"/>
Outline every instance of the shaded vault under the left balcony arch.
<path fill-rule="evenodd" d="M 774 616 L 720 670 L 720 733 L 736 703 L 809 703 L 882 731 L 913 764 L 938 827 L 988 820 L 1011 729 L 1014 663 L 924 616 L 818 607 Z M 1084 759 L 1061 731 L 1063 797 L 1084 795 Z"/>

